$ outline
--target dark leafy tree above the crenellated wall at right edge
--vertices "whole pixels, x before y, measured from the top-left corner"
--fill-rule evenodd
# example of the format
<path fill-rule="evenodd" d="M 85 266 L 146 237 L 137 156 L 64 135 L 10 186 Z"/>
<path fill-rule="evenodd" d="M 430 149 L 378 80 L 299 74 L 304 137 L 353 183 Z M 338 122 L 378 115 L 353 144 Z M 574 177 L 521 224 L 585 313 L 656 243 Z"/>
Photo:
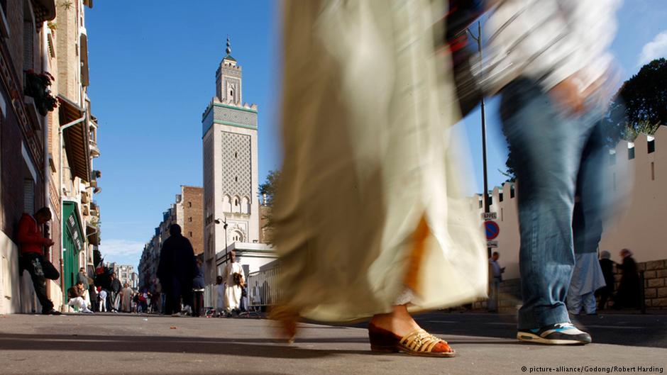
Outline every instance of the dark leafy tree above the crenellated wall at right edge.
<path fill-rule="evenodd" d="M 667 124 L 667 60 L 656 59 L 623 83 L 610 105 L 607 121 L 616 140 L 634 140 Z"/>

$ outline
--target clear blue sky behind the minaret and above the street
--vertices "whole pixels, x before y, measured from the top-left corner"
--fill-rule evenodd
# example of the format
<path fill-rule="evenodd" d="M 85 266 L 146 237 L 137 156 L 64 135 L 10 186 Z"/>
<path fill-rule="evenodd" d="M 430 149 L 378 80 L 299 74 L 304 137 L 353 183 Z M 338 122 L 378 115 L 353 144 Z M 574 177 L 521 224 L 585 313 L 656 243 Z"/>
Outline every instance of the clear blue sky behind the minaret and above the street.
<path fill-rule="evenodd" d="M 243 99 L 259 106 L 260 182 L 280 165 L 278 1 L 96 1 L 87 10 L 89 96 L 99 118 L 103 191 L 101 251 L 106 260 L 138 264 L 180 185 L 202 186 L 202 112 L 215 94 L 215 72 L 231 38 L 243 66 Z M 667 55 L 667 4 L 625 0 L 612 52 L 623 79 L 641 62 Z M 490 187 L 505 177 L 507 148 L 496 101 L 487 106 Z M 458 125 L 472 153 L 481 191 L 479 113 Z"/>

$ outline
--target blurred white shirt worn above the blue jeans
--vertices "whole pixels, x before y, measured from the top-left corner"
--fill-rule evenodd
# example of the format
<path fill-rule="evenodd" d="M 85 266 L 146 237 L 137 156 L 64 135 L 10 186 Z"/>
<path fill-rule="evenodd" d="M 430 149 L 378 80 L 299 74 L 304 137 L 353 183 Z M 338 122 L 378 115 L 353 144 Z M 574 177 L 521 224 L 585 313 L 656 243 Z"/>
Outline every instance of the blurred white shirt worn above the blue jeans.
<path fill-rule="evenodd" d="M 573 76 L 580 91 L 612 63 L 619 0 L 497 0 L 485 29 L 483 86 L 495 94 L 519 76 L 545 91 Z"/>

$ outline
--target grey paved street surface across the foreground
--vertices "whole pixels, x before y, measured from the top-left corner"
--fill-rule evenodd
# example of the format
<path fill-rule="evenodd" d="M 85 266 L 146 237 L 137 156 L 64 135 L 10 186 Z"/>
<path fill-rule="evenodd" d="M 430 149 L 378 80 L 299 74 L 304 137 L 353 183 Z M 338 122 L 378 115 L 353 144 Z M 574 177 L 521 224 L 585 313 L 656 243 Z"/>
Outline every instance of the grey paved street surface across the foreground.
<path fill-rule="evenodd" d="M 363 328 L 304 324 L 291 346 L 272 337 L 272 322 L 251 318 L 0 315 L 0 374 L 531 374 L 533 366 L 551 367 L 556 374 L 667 370 L 667 349 L 654 347 L 547 347 L 446 335 L 460 355 L 439 359 L 373 354 Z M 658 369 L 556 372 L 558 366 Z"/>

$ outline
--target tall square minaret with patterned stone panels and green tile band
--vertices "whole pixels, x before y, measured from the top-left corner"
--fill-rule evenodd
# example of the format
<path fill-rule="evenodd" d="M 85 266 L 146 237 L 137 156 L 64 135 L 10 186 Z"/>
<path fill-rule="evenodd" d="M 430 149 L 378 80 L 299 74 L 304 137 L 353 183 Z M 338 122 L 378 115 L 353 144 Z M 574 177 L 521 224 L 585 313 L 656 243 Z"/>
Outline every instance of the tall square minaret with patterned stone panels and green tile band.
<path fill-rule="evenodd" d="M 204 264 L 216 277 L 216 252 L 233 242 L 259 242 L 258 110 L 243 102 L 243 69 L 226 56 L 216 71 L 216 96 L 202 115 Z"/>

